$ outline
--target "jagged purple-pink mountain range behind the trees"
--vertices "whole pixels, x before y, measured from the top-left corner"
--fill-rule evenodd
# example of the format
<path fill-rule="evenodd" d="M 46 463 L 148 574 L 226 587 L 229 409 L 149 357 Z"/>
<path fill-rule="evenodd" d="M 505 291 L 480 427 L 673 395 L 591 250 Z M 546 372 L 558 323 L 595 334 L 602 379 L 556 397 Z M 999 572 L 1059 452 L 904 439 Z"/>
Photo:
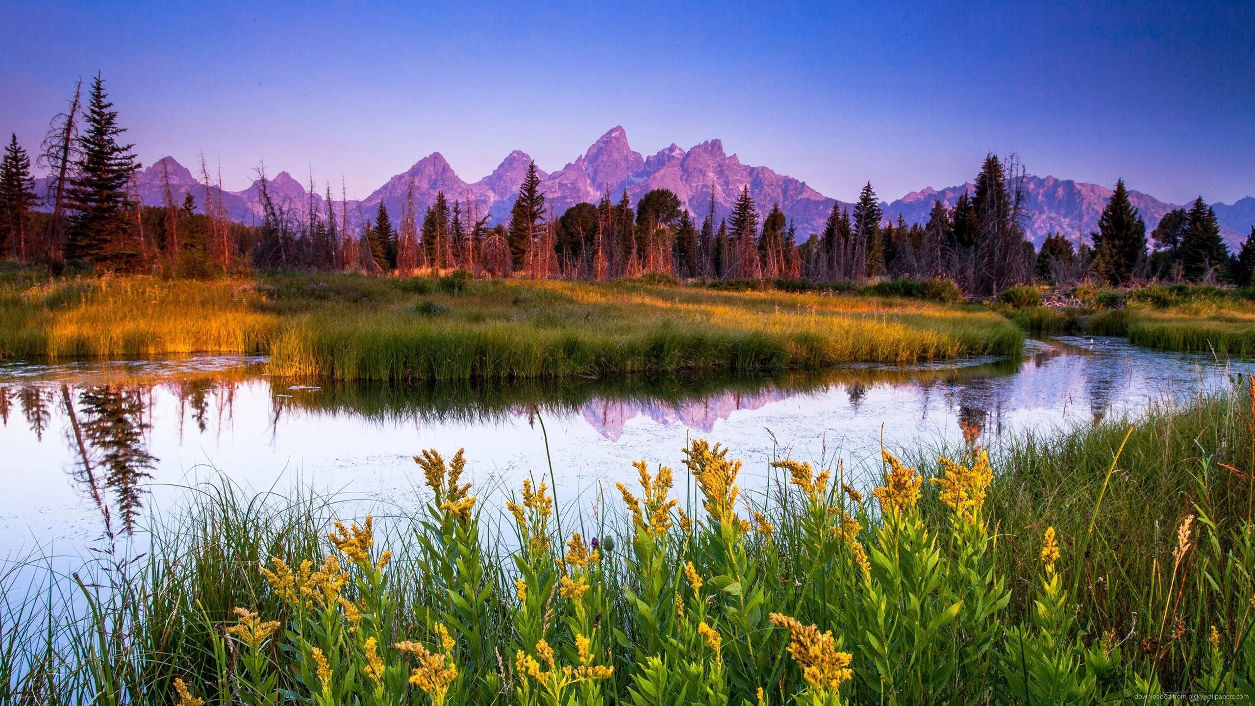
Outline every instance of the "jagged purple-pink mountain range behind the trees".
<path fill-rule="evenodd" d="M 360 224 L 364 219 L 373 219 L 380 202 L 395 220 L 413 185 L 414 204 L 419 214 L 435 201 L 438 191 L 443 191 L 451 200 L 474 202 L 478 214 L 487 215 L 489 224 L 502 222 L 508 219 L 530 162 L 531 157 L 526 152 L 516 149 L 491 175 L 467 182 L 443 155 L 433 152 L 409 170 L 389 178 L 365 198 L 348 201 L 350 221 Z M 163 157 L 138 175 L 139 195 L 146 205 L 159 206 L 164 202 L 164 173 L 169 175 L 176 201 L 181 202 L 188 192 L 196 196 L 197 202 L 203 201 L 205 186 L 196 175 L 173 157 Z M 748 186 L 761 214 L 766 214 L 774 202 L 781 205 L 784 214 L 794 221 L 798 239 L 822 231 L 835 202 L 804 181 L 781 175 L 769 167 L 743 165 L 737 155 L 724 151 L 719 139 L 708 139 L 689 149 L 673 143 L 654 155 L 641 156 L 628 143 L 628 133 L 622 127 L 602 134 L 584 155 L 561 170 L 538 171 L 538 176 L 542 180 L 541 191 L 557 215 L 581 201 L 596 202 L 607 192 L 611 200 L 617 201 L 626 191 L 629 198 L 636 202 L 653 188 L 669 188 L 700 221 L 710 207 L 712 191 L 715 216 L 724 217 L 732 211 L 742 187 Z M 267 178 L 267 190 L 271 198 L 282 207 L 301 212 L 309 207 L 306 187 L 287 172 Z M 974 185 L 970 182 L 941 190 L 929 187 L 891 202 L 882 201 L 881 206 L 886 220 L 896 221 L 901 216 L 909 224 L 922 224 L 927 221 L 934 201 L 940 200 L 946 206 L 953 206 L 964 191 L 973 190 Z M 235 220 L 254 222 L 261 214 L 259 181 L 254 181 L 243 191 L 223 191 L 220 195 L 215 188 L 212 192 L 215 200 L 221 197 Z M 1103 185 L 1053 176 L 1029 176 L 1025 178 L 1025 193 L 1028 231 L 1034 242 L 1040 244 L 1048 232 L 1077 237 L 1097 230 L 1098 216 L 1111 198 L 1112 190 Z M 1163 214 L 1180 207 L 1140 191 L 1130 191 L 1130 195 L 1146 220 L 1147 230 L 1153 229 Z M 339 209 L 338 196 L 333 193 Z M 314 202 L 316 207 L 324 209 L 323 196 L 319 193 L 314 195 Z M 842 202 L 842 206 L 850 205 Z M 1231 247 L 1240 244 L 1255 225 L 1255 197 L 1247 196 L 1232 205 L 1215 204 L 1214 209 L 1222 236 Z"/>

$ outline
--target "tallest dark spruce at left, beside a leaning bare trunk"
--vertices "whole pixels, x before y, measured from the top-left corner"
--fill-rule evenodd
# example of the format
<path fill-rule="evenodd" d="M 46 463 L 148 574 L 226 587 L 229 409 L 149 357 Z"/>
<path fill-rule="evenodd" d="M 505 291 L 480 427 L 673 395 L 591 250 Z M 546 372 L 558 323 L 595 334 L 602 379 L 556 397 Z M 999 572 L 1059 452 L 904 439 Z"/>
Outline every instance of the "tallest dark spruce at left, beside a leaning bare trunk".
<path fill-rule="evenodd" d="M 84 123 L 79 138 L 79 157 L 74 165 L 67 197 L 74 212 L 65 240 L 68 260 L 92 260 L 110 268 L 127 268 L 138 256 L 127 234 L 129 200 L 127 182 L 139 170 L 139 161 L 131 152 L 134 144 L 120 144 L 118 137 L 127 129 L 118 126 L 104 92 L 104 80 L 97 74 L 92 80 Z"/>

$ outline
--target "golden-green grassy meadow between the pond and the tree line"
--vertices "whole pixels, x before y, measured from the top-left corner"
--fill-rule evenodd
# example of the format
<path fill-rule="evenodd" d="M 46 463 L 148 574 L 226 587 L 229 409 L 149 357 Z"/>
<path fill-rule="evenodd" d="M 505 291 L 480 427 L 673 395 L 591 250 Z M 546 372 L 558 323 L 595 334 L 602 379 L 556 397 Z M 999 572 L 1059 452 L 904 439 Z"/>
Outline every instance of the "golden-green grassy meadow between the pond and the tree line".
<path fill-rule="evenodd" d="M 451 381 L 817 371 L 1017 354 L 974 305 L 830 293 L 359 275 L 0 283 L 9 359 L 260 353 L 269 372 Z"/>

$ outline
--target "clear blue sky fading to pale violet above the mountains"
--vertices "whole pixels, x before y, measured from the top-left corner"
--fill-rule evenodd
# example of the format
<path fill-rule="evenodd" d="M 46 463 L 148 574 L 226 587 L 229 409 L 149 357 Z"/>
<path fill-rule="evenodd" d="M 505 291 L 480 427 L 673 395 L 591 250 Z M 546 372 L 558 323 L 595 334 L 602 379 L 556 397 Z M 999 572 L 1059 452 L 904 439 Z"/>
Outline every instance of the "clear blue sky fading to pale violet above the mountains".
<path fill-rule="evenodd" d="M 0 3 L 0 131 L 34 148 L 98 69 L 147 165 L 203 149 L 366 196 L 442 152 L 556 170 L 622 124 L 719 137 L 828 196 L 1029 173 L 1255 195 L 1255 3 Z"/>

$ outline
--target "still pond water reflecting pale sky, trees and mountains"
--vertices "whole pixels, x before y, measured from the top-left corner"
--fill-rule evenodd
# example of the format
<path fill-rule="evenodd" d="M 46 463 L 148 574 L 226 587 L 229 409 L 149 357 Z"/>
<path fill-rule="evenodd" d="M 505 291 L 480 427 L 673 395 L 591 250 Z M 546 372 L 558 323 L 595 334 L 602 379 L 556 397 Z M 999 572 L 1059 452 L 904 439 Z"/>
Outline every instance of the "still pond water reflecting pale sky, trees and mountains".
<path fill-rule="evenodd" d="M 496 384 L 294 384 L 264 359 L 0 366 L 0 557 L 75 551 L 142 528 L 187 486 L 296 485 L 413 506 L 412 456 L 466 447 L 469 480 L 548 476 L 558 501 L 629 480 L 631 461 L 679 465 L 689 437 L 723 442 L 761 482 L 773 453 L 851 474 L 916 442 L 996 445 L 1227 387 L 1255 361 L 1165 353 L 1122 339 L 1032 340 L 1017 359 L 825 374 Z M 866 480 L 866 479 L 865 479 Z M 481 495 L 483 491 L 481 490 Z M 576 502 L 579 505 L 579 502 Z"/>

